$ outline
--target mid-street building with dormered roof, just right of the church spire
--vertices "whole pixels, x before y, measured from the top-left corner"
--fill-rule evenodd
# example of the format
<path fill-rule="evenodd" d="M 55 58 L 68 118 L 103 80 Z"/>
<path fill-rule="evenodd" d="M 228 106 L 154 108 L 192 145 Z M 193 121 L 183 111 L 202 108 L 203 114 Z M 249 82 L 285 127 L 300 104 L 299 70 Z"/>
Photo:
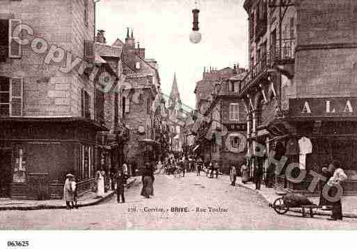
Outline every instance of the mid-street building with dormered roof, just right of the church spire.
<path fill-rule="evenodd" d="M 245 69 L 235 66 L 231 77 L 219 77 L 198 131 L 198 146 L 203 148 L 196 147 L 195 151 L 205 151 L 205 160 L 218 162 L 224 173 L 232 165 L 241 166 L 246 155 L 246 112 L 238 95 L 245 75 Z"/>

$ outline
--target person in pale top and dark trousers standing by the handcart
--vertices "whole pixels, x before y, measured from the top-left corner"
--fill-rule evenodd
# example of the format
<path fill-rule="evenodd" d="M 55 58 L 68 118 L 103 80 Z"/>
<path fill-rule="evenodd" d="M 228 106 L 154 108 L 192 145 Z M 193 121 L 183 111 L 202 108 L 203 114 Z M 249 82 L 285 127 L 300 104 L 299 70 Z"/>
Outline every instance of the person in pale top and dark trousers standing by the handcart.
<path fill-rule="evenodd" d="M 338 200 L 332 202 L 332 214 L 331 214 L 331 217 L 328 218 L 328 220 L 342 221 L 342 201 L 341 201 L 342 196 L 336 196 L 336 195 L 338 195 L 337 190 L 338 190 L 338 187 L 341 187 L 341 185 L 340 185 L 341 182 L 344 182 L 344 180 L 347 180 L 347 175 L 346 175 L 346 173 L 344 173 L 342 166 L 341 166 L 340 162 L 338 162 L 338 161 L 333 161 L 333 163 L 330 164 L 329 168 L 330 168 L 331 172 L 333 172 L 333 176 L 330 178 L 330 180 L 328 180 L 327 184 L 328 184 L 328 186 L 333 187 L 333 189 L 331 189 L 331 197 L 338 198 Z M 338 186 L 338 185 L 340 185 L 340 186 Z"/>

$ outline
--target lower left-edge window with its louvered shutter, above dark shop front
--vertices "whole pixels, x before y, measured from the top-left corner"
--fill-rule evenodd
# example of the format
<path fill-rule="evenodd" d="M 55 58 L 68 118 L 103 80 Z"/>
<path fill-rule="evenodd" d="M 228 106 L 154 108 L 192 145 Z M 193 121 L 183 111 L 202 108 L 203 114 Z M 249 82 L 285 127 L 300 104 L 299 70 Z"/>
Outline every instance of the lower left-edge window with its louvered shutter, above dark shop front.
<path fill-rule="evenodd" d="M 0 77 L 0 117 L 21 117 L 22 96 L 22 78 Z"/>

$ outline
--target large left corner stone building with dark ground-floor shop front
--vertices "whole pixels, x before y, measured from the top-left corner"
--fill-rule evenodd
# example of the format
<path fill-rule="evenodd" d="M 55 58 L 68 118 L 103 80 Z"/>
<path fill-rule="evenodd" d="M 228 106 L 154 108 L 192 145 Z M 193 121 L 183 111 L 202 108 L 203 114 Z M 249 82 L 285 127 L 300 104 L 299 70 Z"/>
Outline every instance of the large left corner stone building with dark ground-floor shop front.
<path fill-rule="evenodd" d="M 0 29 L 0 196 L 61 198 L 67 173 L 88 191 L 105 145 L 98 132 L 116 122 L 100 73 L 118 79 L 95 53 L 95 3 L 1 1 Z"/>

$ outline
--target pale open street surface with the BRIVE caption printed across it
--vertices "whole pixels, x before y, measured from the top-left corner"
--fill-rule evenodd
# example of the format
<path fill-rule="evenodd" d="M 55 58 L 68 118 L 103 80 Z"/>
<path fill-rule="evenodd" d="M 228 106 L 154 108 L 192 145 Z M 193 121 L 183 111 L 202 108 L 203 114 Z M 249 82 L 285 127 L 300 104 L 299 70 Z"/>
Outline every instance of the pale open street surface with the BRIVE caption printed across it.
<path fill-rule="evenodd" d="M 209 179 L 205 174 L 185 178 L 157 175 L 154 197 L 140 196 L 141 184 L 126 193 L 127 203 L 117 204 L 116 196 L 101 205 L 81 209 L 6 211 L 0 214 L 1 229 L 15 230 L 228 230 L 228 229 L 356 229 L 357 221 L 327 221 L 326 217 L 302 218 L 288 212 L 276 214 L 251 190 L 232 187 L 228 178 Z M 187 207 L 189 212 L 171 212 Z M 221 212 L 209 212 L 209 207 Z M 136 212 L 129 208 L 135 208 Z M 206 209 L 197 212 L 196 208 Z M 162 209 L 151 211 L 150 209 Z M 145 211 L 144 211 L 145 210 Z M 182 209 L 180 209 L 182 210 Z"/>

